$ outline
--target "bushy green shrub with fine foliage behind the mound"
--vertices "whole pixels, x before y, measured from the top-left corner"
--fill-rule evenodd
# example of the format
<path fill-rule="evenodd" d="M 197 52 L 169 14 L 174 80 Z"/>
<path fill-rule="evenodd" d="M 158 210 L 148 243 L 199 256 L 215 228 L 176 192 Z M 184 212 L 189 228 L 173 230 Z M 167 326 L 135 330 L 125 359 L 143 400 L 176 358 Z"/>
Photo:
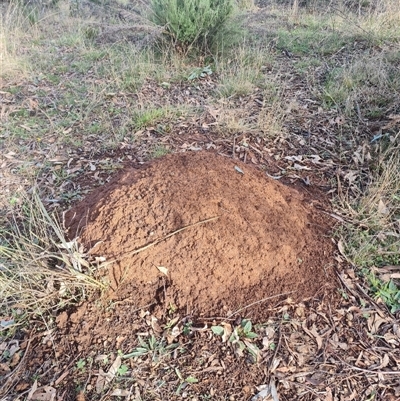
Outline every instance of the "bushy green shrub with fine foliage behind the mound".
<path fill-rule="evenodd" d="M 188 51 L 206 51 L 224 29 L 233 11 L 232 0 L 152 0 L 150 18 L 165 27 L 166 37 Z"/>

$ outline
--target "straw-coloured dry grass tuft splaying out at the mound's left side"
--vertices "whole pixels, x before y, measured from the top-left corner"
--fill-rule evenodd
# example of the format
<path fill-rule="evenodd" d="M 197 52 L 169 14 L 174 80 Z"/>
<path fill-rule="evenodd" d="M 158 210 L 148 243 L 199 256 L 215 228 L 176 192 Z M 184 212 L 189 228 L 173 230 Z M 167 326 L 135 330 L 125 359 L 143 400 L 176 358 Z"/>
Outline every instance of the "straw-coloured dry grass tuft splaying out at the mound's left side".
<path fill-rule="evenodd" d="M 55 216 L 34 192 L 20 194 L 0 231 L 0 311 L 4 316 L 55 311 L 104 289 L 76 241 L 68 242 Z"/>

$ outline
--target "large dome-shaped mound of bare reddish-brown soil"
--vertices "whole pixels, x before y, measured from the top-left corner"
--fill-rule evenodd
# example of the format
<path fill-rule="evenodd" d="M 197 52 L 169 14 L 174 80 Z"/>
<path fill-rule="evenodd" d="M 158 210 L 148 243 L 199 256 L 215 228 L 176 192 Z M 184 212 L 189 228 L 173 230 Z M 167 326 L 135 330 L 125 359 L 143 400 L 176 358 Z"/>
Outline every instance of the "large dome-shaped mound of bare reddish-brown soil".
<path fill-rule="evenodd" d="M 126 169 L 66 217 L 87 249 L 101 241 L 91 252 L 115 260 L 114 297 L 136 307 L 226 316 L 266 297 L 333 288 L 328 228 L 312 202 L 212 153 Z"/>

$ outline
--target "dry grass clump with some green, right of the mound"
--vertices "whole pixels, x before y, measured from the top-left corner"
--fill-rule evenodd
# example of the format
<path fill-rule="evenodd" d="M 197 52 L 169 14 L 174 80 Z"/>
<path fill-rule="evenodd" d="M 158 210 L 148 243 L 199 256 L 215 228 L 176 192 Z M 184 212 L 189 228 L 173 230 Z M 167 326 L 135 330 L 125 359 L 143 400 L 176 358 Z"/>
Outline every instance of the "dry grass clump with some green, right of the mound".
<path fill-rule="evenodd" d="M 395 273 L 400 266 L 399 138 L 400 133 L 392 137 L 377 157 L 364 190 L 342 198 L 342 212 L 351 221 L 342 230 L 347 256 L 364 269 L 374 294 L 393 312 L 400 308 L 400 283 L 396 274 L 390 274 L 392 267 Z"/>

